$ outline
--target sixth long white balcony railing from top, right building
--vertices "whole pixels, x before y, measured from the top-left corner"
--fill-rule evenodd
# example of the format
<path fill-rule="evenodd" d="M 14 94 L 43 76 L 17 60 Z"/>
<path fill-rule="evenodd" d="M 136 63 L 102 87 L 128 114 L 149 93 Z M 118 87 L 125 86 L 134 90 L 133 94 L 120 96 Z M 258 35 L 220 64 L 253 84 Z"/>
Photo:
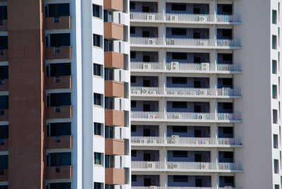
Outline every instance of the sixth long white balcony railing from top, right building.
<path fill-rule="evenodd" d="M 171 137 L 132 136 L 132 145 L 173 145 L 173 146 L 241 146 L 240 138 L 184 138 L 177 135 Z"/>

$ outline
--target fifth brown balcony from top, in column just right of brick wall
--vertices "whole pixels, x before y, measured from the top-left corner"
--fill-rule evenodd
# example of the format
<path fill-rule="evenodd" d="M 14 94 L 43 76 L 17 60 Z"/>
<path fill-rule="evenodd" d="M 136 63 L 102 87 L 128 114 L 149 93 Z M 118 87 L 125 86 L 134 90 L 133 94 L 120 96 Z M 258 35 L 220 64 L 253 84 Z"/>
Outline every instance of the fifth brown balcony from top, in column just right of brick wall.
<path fill-rule="evenodd" d="M 71 148 L 71 136 L 58 136 L 58 137 L 47 137 L 46 148 L 47 149 L 58 149 L 58 148 Z"/>

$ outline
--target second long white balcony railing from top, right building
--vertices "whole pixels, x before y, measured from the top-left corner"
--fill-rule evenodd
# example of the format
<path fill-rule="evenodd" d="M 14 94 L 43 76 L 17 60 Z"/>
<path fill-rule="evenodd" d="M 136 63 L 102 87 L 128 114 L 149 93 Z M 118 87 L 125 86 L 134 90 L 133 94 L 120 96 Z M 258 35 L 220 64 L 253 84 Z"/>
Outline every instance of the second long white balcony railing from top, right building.
<path fill-rule="evenodd" d="M 182 49 L 241 49 L 240 39 L 188 39 L 161 37 L 130 37 L 130 47 Z"/>

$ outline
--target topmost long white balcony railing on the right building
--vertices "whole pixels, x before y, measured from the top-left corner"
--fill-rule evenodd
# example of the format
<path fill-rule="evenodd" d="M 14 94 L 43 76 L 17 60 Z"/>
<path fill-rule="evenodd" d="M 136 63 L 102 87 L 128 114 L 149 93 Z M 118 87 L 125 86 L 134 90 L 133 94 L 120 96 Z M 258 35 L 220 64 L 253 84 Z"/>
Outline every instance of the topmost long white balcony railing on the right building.
<path fill-rule="evenodd" d="M 180 13 L 140 13 L 131 12 L 130 20 L 142 22 L 172 23 L 241 23 L 240 15 L 180 14 Z"/>

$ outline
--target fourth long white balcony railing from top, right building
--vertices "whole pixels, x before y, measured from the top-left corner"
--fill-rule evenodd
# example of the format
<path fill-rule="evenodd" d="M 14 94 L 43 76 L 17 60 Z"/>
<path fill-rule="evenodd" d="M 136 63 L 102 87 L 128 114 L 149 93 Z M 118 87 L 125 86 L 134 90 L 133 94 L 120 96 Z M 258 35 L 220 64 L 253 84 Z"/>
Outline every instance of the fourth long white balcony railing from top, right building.
<path fill-rule="evenodd" d="M 240 97 L 240 89 L 235 88 L 186 88 L 186 87 L 130 87 L 133 96 L 167 95 L 190 97 Z"/>

